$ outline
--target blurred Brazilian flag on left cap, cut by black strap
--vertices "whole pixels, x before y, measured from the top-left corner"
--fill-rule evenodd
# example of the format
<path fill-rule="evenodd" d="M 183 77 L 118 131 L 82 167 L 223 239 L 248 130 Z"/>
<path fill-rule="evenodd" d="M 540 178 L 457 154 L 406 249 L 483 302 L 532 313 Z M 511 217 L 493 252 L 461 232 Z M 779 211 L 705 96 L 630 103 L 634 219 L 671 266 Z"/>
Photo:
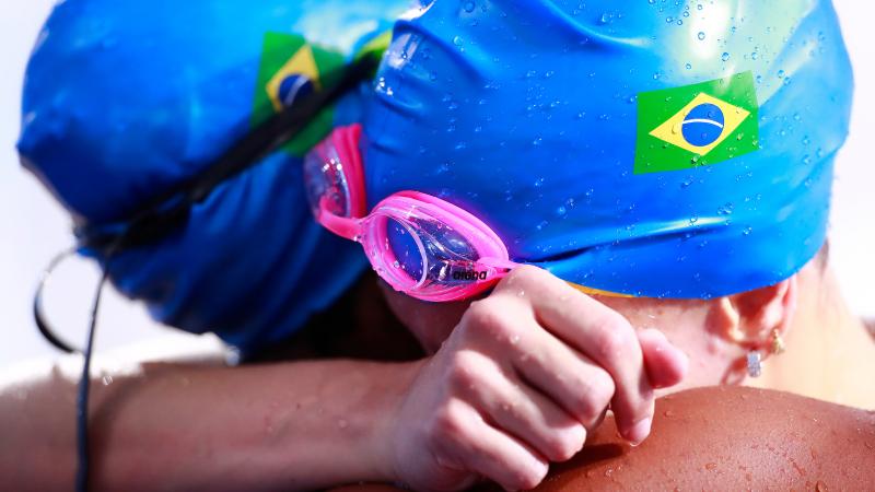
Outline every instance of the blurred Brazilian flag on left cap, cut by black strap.
<path fill-rule="evenodd" d="M 258 125 L 301 97 L 337 83 L 345 65 L 341 54 L 311 45 L 302 36 L 267 33 L 255 90 L 252 125 Z M 329 108 L 285 147 L 303 155 L 331 130 Z"/>

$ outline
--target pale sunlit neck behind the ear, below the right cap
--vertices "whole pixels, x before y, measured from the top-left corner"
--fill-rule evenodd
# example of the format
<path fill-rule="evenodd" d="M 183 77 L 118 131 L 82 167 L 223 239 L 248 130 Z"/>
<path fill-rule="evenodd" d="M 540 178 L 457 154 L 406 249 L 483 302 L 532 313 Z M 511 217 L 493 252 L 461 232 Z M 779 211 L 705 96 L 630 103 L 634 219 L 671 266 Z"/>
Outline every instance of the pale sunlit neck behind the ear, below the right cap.
<path fill-rule="evenodd" d="M 786 351 L 763 363 L 750 386 L 780 389 L 851 407 L 875 409 L 875 343 L 848 308 L 831 270 L 809 265 L 800 272 L 794 321 Z"/>

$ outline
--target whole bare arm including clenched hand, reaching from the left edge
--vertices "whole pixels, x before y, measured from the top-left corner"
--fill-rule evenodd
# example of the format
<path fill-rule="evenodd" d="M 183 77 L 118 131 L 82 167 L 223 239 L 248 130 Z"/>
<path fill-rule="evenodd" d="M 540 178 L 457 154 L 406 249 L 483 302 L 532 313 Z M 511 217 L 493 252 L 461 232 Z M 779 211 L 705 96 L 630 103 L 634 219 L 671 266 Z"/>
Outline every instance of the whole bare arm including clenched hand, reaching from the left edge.
<path fill-rule="evenodd" d="M 145 365 L 114 374 L 108 385 L 95 382 L 93 482 L 108 490 L 289 490 L 398 480 L 459 490 L 486 476 L 530 488 L 548 461 L 583 447 L 608 403 L 623 436 L 644 440 L 653 388 L 686 372 L 682 353 L 652 335 L 639 337 L 620 315 L 549 273 L 521 268 L 420 362 Z M 73 380 L 46 372 L 0 385 L 0 419 L 13 422 L 0 444 L 13 458 L 0 476 L 11 483 L 70 483 Z"/>

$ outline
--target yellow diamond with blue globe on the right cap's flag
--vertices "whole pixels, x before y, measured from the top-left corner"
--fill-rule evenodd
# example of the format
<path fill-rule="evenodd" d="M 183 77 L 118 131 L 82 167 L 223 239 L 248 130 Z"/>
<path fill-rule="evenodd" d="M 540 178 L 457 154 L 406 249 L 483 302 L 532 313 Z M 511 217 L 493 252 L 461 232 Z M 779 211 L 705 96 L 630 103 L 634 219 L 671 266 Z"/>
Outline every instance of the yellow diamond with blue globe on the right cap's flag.
<path fill-rule="evenodd" d="M 650 134 L 686 151 L 707 155 L 749 116 L 747 109 L 700 93 Z"/>

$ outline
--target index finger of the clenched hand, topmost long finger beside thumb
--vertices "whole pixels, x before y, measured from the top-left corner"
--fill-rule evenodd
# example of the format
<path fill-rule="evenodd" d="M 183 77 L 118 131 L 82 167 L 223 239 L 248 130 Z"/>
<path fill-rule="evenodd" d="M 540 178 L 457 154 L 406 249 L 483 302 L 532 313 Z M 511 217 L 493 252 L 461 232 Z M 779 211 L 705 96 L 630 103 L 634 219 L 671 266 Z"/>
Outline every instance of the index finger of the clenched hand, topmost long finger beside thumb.
<path fill-rule="evenodd" d="M 535 316 L 546 329 L 607 371 L 615 385 L 611 409 L 620 434 L 638 444 L 650 434 L 653 388 L 632 326 L 619 313 L 537 268 L 520 268 L 495 292 L 538 291 Z"/>

